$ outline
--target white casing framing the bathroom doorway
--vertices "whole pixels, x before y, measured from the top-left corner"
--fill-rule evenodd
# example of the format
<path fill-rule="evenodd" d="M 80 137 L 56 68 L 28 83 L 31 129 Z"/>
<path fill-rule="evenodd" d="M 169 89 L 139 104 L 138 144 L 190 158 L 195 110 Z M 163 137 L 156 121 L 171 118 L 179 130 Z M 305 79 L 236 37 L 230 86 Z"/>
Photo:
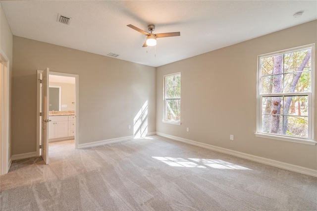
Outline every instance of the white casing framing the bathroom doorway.
<path fill-rule="evenodd" d="M 39 70 L 38 70 L 39 71 Z M 58 75 L 58 76 L 66 76 L 66 77 L 73 77 L 75 78 L 75 149 L 78 149 L 78 122 L 79 122 L 79 75 L 75 74 L 69 74 L 69 73 L 62 73 L 62 72 L 52 72 L 50 71 L 49 75 Z M 50 82 L 48 82 L 50 83 Z M 38 104 L 39 105 L 39 104 Z M 39 115 L 40 111 L 38 111 Z M 38 121 L 39 121 L 39 116 L 38 116 Z M 40 122 L 38 122 L 40 125 Z M 40 131 L 39 131 L 39 126 L 38 126 L 38 132 L 37 132 L 37 150 L 36 153 L 38 156 L 40 156 Z M 47 144 L 49 144 L 49 139 L 47 139 Z"/>

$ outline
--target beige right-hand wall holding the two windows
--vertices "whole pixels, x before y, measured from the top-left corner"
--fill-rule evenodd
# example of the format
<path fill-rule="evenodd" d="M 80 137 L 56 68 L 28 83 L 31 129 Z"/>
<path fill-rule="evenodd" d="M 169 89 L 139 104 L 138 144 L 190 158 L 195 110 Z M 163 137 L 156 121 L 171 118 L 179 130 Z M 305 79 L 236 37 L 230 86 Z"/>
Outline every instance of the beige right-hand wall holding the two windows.
<path fill-rule="evenodd" d="M 255 136 L 257 56 L 312 43 L 317 21 L 158 67 L 157 132 L 317 169 L 317 146 Z M 161 121 L 163 75 L 175 72 L 181 72 L 180 126 Z"/>

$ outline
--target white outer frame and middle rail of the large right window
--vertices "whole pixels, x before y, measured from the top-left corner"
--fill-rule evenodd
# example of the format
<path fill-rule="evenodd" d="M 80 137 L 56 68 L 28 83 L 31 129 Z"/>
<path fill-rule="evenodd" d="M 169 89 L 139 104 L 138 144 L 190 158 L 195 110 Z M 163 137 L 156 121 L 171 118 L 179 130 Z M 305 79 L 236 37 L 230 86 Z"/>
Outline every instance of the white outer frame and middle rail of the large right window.
<path fill-rule="evenodd" d="M 291 53 L 295 51 L 301 51 L 305 49 L 311 49 L 311 91 L 310 92 L 302 92 L 302 93 L 273 93 L 273 94 L 262 94 L 262 72 L 261 72 L 261 58 L 267 56 L 274 56 L 278 54 Z M 309 144 L 316 145 L 316 141 L 314 140 L 314 110 L 315 107 L 315 44 L 300 46 L 296 48 L 286 49 L 273 53 L 265 53 L 258 55 L 258 71 L 257 71 L 257 132 L 255 135 L 261 138 L 275 139 L 281 141 L 295 142 L 301 144 Z M 293 137 L 283 134 L 271 134 L 262 132 L 262 99 L 263 97 L 274 97 L 274 96 L 308 96 L 308 137 L 307 138 L 299 138 Z"/>

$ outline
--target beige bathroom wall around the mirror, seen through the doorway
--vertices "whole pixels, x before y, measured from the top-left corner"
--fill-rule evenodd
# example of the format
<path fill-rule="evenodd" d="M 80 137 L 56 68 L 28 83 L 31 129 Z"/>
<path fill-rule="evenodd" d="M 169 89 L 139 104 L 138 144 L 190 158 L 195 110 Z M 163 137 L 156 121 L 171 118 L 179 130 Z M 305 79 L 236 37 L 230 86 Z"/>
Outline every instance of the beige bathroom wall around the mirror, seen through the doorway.
<path fill-rule="evenodd" d="M 75 110 L 75 84 L 50 82 L 50 86 L 61 87 L 61 105 L 67 105 L 61 110 Z"/>

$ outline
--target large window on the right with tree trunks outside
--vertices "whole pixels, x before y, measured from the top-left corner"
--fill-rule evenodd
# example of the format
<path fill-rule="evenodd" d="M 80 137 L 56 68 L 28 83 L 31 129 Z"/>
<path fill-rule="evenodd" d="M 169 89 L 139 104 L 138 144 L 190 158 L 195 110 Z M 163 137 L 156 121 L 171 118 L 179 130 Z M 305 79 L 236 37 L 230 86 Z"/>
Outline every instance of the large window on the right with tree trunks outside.
<path fill-rule="evenodd" d="M 314 49 L 258 57 L 258 134 L 314 139 Z"/>

